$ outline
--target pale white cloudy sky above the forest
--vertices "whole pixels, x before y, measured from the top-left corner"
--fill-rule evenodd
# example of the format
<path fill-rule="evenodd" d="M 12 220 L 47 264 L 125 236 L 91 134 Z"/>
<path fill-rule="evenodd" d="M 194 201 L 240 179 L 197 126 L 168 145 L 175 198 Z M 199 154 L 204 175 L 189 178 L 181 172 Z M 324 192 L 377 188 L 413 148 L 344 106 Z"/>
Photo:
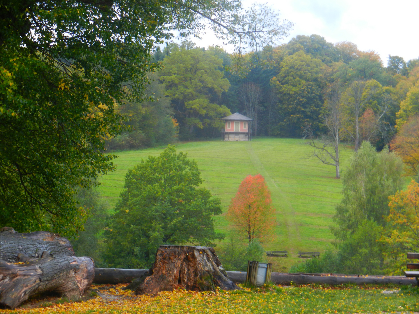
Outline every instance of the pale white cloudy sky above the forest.
<path fill-rule="evenodd" d="M 242 0 L 244 7 L 254 0 Z M 262 2 L 263 3 L 263 2 Z M 317 34 L 328 42 L 352 41 L 362 51 L 373 50 L 387 65 L 388 55 L 407 62 L 419 58 L 419 1 L 397 0 L 268 0 L 282 19 L 294 23 L 287 43 L 297 35 Z M 220 45 L 207 32 L 198 46 Z M 228 47 L 225 47 L 227 51 Z M 230 52 L 230 51 L 229 51 Z"/>

